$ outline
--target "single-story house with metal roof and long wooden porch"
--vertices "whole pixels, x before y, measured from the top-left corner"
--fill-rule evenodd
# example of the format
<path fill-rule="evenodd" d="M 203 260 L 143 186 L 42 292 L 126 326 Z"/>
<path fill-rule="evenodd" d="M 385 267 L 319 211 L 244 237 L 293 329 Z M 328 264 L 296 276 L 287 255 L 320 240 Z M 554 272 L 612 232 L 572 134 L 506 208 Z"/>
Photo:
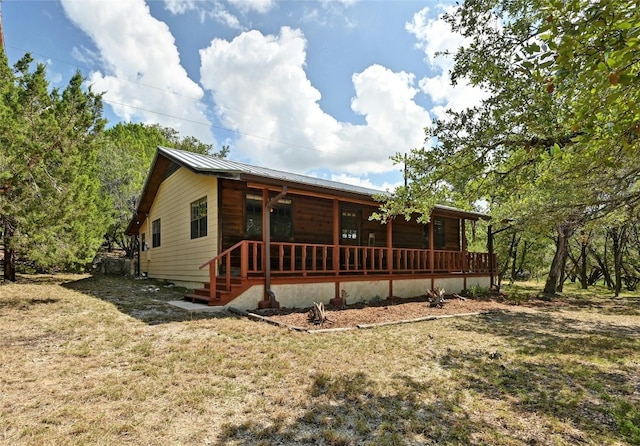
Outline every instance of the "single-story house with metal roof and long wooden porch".
<path fill-rule="evenodd" d="M 493 254 L 467 252 L 467 222 L 369 216 L 379 191 L 159 147 L 127 233 L 139 271 L 209 305 L 306 307 L 489 286 Z"/>

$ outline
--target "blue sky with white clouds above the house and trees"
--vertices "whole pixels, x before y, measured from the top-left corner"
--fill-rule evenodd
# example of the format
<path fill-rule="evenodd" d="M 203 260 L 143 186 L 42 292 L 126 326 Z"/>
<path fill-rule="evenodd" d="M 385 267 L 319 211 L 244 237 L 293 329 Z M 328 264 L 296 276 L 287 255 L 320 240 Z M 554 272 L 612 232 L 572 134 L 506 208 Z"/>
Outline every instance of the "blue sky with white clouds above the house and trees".
<path fill-rule="evenodd" d="M 1 0 L 0 0 L 1 1 Z M 231 148 L 229 159 L 392 190 L 391 157 L 482 93 L 449 83 L 464 44 L 453 2 L 4 0 L 6 53 L 80 70 L 109 125 L 160 124 Z"/>

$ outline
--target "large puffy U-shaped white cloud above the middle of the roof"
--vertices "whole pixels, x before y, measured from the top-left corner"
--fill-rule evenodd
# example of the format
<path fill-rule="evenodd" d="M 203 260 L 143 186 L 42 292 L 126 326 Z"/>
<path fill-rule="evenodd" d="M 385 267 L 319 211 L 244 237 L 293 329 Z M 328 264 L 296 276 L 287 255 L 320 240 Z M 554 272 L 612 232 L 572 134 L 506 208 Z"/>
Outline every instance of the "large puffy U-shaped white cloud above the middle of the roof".
<path fill-rule="evenodd" d="M 329 168 L 362 175 L 395 169 L 389 156 L 422 145 L 428 113 L 415 104 L 413 75 L 374 65 L 353 76 L 354 112 L 365 125 L 341 123 L 319 105 L 305 73 L 306 40 L 283 27 L 278 36 L 248 31 L 200 51 L 201 82 L 236 150 L 259 165 L 295 171 Z"/>

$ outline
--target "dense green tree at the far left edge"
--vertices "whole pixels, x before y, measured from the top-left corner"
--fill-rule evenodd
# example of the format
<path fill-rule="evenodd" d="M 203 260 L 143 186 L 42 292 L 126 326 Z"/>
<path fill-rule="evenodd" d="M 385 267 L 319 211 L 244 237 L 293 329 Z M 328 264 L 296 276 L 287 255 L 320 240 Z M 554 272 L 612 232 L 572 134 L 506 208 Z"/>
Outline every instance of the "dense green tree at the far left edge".
<path fill-rule="evenodd" d="M 13 69 L 0 54 L 0 220 L 5 277 L 15 260 L 40 270 L 79 268 L 91 261 L 106 229 L 110 203 L 98 179 L 103 131 L 100 95 L 76 73 L 50 89 L 29 54 Z"/>

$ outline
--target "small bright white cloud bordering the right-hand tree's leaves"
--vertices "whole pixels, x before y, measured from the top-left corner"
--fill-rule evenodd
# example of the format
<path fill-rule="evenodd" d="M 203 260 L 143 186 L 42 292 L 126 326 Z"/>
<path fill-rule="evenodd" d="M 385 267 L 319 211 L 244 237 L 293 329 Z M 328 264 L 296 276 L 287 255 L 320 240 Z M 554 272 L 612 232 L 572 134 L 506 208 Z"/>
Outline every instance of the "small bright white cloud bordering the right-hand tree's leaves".
<path fill-rule="evenodd" d="M 447 8 L 447 12 L 452 12 L 454 7 Z M 451 31 L 448 23 L 442 20 L 442 16 L 437 18 L 429 17 L 429 8 L 424 8 L 417 12 L 410 23 L 406 24 L 406 29 L 418 40 L 418 47 L 424 50 L 426 60 L 438 74 L 425 77 L 420 80 L 420 89 L 429 95 L 435 106 L 431 113 L 439 118 L 444 117 L 447 109 L 460 111 L 468 107 L 480 104 L 486 97 L 486 93 L 477 87 L 471 86 L 464 79 L 458 84 L 451 85 L 449 71 L 453 68 L 453 54 L 467 41 L 457 33 Z M 438 52 L 449 52 L 450 55 L 439 55 Z"/>

